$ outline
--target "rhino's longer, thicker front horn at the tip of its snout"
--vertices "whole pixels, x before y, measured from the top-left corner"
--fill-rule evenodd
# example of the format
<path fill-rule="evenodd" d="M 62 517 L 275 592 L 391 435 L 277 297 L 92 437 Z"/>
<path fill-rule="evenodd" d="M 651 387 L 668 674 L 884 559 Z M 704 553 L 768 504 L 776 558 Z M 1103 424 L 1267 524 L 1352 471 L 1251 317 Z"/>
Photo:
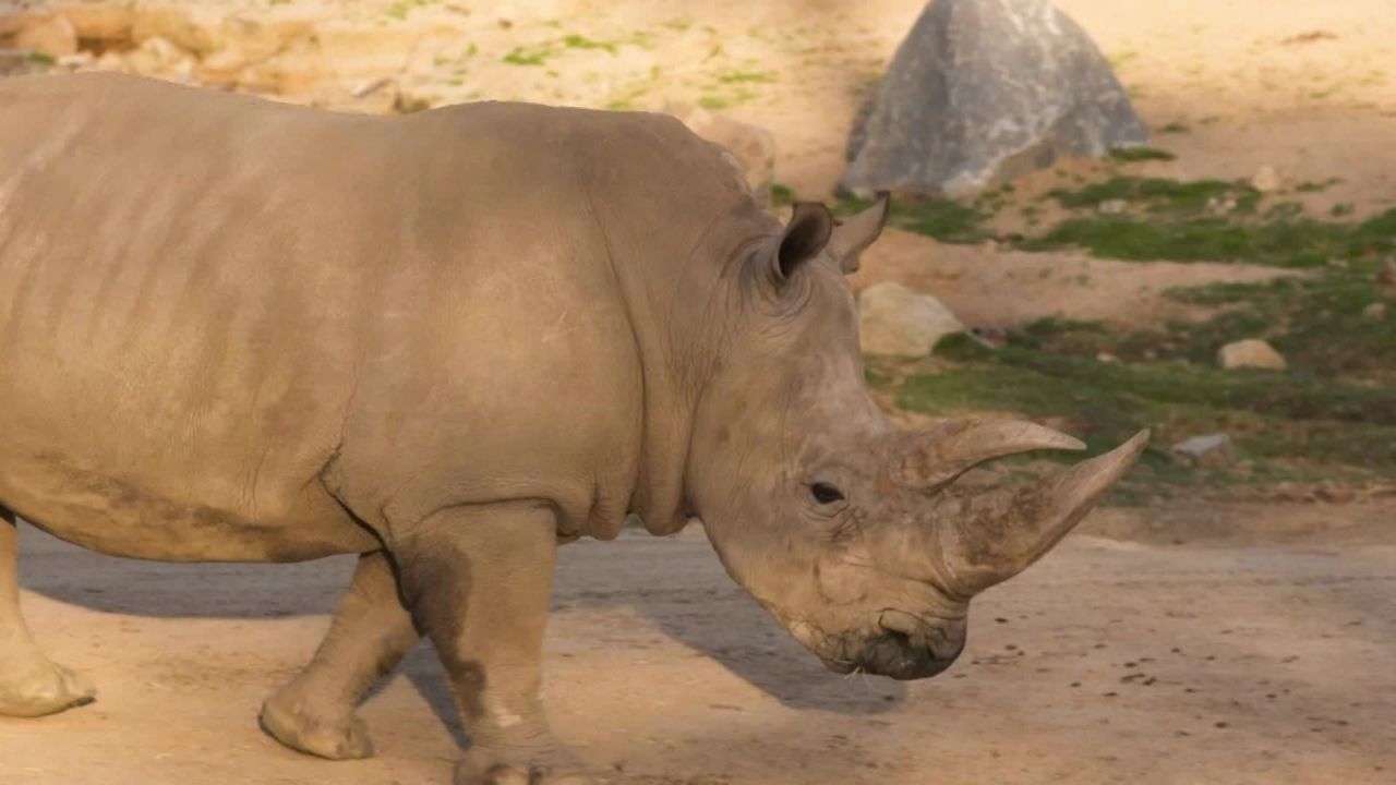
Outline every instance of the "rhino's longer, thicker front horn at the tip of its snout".
<path fill-rule="evenodd" d="M 1007 581 L 1051 550 L 1149 444 L 1149 432 L 1104 455 L 1020 487 L 962 499 L 941 518 L 949 589 L 970 596 Z"/>

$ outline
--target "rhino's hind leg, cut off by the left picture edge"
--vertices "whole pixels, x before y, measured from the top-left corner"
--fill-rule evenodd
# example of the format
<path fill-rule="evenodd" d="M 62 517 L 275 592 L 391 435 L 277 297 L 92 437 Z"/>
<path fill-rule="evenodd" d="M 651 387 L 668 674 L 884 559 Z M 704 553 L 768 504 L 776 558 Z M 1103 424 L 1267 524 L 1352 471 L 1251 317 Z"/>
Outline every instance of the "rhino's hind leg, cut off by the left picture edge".
<path fill-rule="evenodd" d="M 95 700 L 81 676 L 54 665 L 20 616 L 14 514 L 0 507 L 0 717 L 43 717 Z"/>

